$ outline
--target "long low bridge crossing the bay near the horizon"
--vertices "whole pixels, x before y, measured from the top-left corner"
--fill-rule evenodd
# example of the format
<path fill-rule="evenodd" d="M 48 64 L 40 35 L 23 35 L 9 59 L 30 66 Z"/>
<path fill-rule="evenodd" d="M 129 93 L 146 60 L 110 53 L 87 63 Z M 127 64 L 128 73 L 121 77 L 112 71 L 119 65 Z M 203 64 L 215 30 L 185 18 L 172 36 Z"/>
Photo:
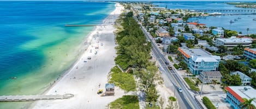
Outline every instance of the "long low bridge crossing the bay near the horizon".
<path fill-rule="evenodd" d="M 256 12 L 256 9 L 197 9 L 197 12 Z"/>

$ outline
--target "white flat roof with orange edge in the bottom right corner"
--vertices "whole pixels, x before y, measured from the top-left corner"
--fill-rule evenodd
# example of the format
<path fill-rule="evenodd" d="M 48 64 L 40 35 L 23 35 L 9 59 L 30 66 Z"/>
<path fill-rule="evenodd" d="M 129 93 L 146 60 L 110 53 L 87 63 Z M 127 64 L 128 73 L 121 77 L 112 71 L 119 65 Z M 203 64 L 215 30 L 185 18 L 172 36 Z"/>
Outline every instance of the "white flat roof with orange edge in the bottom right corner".
<path fill-rule="evenodd" d="M 240 102 L 242 102 L 242 98 L 252 99 L 256 98 L 256 90 L 251 86 L 228 86 L 226 87 L 227 91 L 234 95 Z M 256 106 L 256 100 L 252 101 L 252 104 Z"/>

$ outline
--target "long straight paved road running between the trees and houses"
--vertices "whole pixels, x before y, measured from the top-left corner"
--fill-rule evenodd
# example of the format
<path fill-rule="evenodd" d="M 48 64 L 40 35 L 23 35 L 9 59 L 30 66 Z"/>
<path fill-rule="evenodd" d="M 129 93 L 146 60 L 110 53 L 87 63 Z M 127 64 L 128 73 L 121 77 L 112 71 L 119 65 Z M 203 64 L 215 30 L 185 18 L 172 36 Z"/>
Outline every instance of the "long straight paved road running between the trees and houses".
<path fill-rule="evenodd" d="M 156 43 L 153 42 L 152 36 L 146 31 L 144 27 L 141 26 L 141 29 L 144 32 L 145 36 L 147 37 L 147 40 L 150 40 L 152 42 L 153 55 L 156 57 L 158 63 L 160 64 L 160 67 L 163 69 L 164 74 L 168 76 L 168 78 L 170 79 L 170 81 L 167 82 L 172 82 L 174 86 L 182 88 L 182 93 L 178 93 L 178 91 L 176 91 L 175 94 L 180 104 L 180 107 L 188 109 L 199 109 L 200 107 L 198 106 L 197 102 L 195 102 L 194 97 L 192 97 L 192 95 L 188 92 L 188 89 L 184 86 L 184 84 L 182 83 L 183 81 L 180 80 L 180 77 L 177 75 L 175 70 L 169 70 L 168 67 L 165 65 L 165 62 L 168 60 L 159 50 Z"/>

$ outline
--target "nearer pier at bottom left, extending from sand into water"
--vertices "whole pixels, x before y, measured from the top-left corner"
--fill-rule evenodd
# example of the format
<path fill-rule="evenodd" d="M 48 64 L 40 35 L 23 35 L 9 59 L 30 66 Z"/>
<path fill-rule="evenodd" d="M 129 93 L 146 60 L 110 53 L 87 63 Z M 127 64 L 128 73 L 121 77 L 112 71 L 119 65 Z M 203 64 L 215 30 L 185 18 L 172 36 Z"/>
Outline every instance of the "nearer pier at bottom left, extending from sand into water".
<path fill-rule="evenodd" d="M 74 97 L 74 94 L 63 95 L 3 95 L 0 96 L 0 102 L 10 101 L 37 101 L 37 100 L 56 100 L 56 99 L 69 99 Z"/>

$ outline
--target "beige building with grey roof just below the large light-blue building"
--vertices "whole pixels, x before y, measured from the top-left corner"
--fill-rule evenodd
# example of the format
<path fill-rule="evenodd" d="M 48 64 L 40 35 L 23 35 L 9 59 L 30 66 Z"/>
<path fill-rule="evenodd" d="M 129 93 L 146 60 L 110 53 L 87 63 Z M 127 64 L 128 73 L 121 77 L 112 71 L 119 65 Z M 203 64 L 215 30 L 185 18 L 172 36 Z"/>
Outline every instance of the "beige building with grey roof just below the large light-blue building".
<path fill-rule="evenodd" d="M 204 84 L 212 83 L 212 80 L 217 80 L 217 82 L 221 82 L 221 72 L 219 71 L 210 71 L 210 72 L 201 72 L 199 76 L 199 80 Z"/>

